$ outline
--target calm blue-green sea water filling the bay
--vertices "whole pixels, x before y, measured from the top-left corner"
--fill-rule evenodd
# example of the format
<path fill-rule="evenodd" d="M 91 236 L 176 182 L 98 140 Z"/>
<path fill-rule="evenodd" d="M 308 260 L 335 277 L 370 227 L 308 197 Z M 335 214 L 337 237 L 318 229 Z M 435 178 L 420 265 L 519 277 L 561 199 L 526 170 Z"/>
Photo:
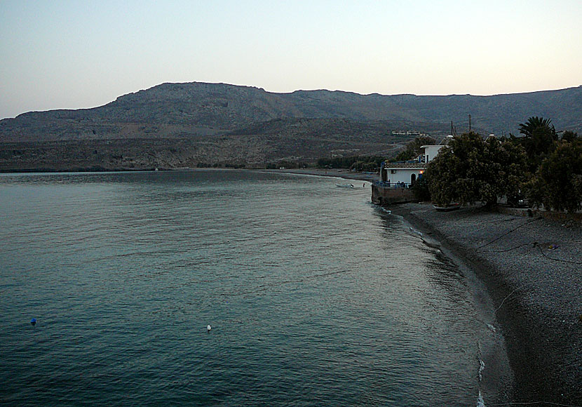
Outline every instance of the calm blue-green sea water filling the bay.
<path fill-rule="evenodd" d="M 335 182 L 0 175 L 1 403 L 475 406 L 463 274 Z"/>

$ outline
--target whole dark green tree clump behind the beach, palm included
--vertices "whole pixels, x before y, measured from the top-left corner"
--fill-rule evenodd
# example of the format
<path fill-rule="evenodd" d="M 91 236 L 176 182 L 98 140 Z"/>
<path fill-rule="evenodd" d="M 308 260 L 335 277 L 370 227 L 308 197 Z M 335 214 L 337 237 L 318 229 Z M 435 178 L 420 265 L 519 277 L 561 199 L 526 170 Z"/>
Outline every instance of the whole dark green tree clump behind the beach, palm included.
<path fill-rule="evenodd" d="M 548 211 L 581 210 L 582 138 L 564 131 L 559 139 L 552 121 L 537 116 L 520 124 L 520 133 L 509 140 L 483 140 L 475 133 L 452 138 L 428 164 L 415 194 L 426 199 L 430 192 L 441 206 L 475 201 L 490 206 L 499 196 L 525 191 L 534 206 Z"/>

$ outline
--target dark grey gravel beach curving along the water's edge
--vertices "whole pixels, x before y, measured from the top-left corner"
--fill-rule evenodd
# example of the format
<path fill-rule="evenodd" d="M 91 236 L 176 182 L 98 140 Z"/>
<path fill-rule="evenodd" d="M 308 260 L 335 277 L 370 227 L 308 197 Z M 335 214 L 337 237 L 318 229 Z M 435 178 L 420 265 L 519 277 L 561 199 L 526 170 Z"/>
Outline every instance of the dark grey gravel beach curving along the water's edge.
<path fill-rule="evenodd" d="M 578 222 L 430 204 L 393 213 L 468 262 L 494 302 L 514 403 L 582 405 L 582 227 Z"/>

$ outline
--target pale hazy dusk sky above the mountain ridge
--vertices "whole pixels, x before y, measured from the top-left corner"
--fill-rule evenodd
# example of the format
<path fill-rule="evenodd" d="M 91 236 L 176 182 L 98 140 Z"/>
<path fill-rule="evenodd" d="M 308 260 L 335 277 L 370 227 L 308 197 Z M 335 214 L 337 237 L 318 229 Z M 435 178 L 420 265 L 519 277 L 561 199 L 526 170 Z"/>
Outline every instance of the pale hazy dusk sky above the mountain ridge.
<path fill-rule="evenodd" d="M 582 0 L 0 0 L 0 119 L 163 82 L 492 95 L 582 84 Z"/>

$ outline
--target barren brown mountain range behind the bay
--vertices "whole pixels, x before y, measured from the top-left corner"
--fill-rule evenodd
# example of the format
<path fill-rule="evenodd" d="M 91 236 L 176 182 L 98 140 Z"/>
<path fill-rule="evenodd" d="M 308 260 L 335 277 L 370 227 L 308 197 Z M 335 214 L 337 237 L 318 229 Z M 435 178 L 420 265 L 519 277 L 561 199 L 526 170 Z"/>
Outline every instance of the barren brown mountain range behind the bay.
<path fill-rule="evenodd" d="M 421 131 L 514 133 L 529 116 L 582 133 L 582 86 L 493 96 L 269 93 L 228 84 L 161 84 L 93 109 L 0 121 L 0 170 L 260 166 L 322 156 L 388 154 Z"/>

